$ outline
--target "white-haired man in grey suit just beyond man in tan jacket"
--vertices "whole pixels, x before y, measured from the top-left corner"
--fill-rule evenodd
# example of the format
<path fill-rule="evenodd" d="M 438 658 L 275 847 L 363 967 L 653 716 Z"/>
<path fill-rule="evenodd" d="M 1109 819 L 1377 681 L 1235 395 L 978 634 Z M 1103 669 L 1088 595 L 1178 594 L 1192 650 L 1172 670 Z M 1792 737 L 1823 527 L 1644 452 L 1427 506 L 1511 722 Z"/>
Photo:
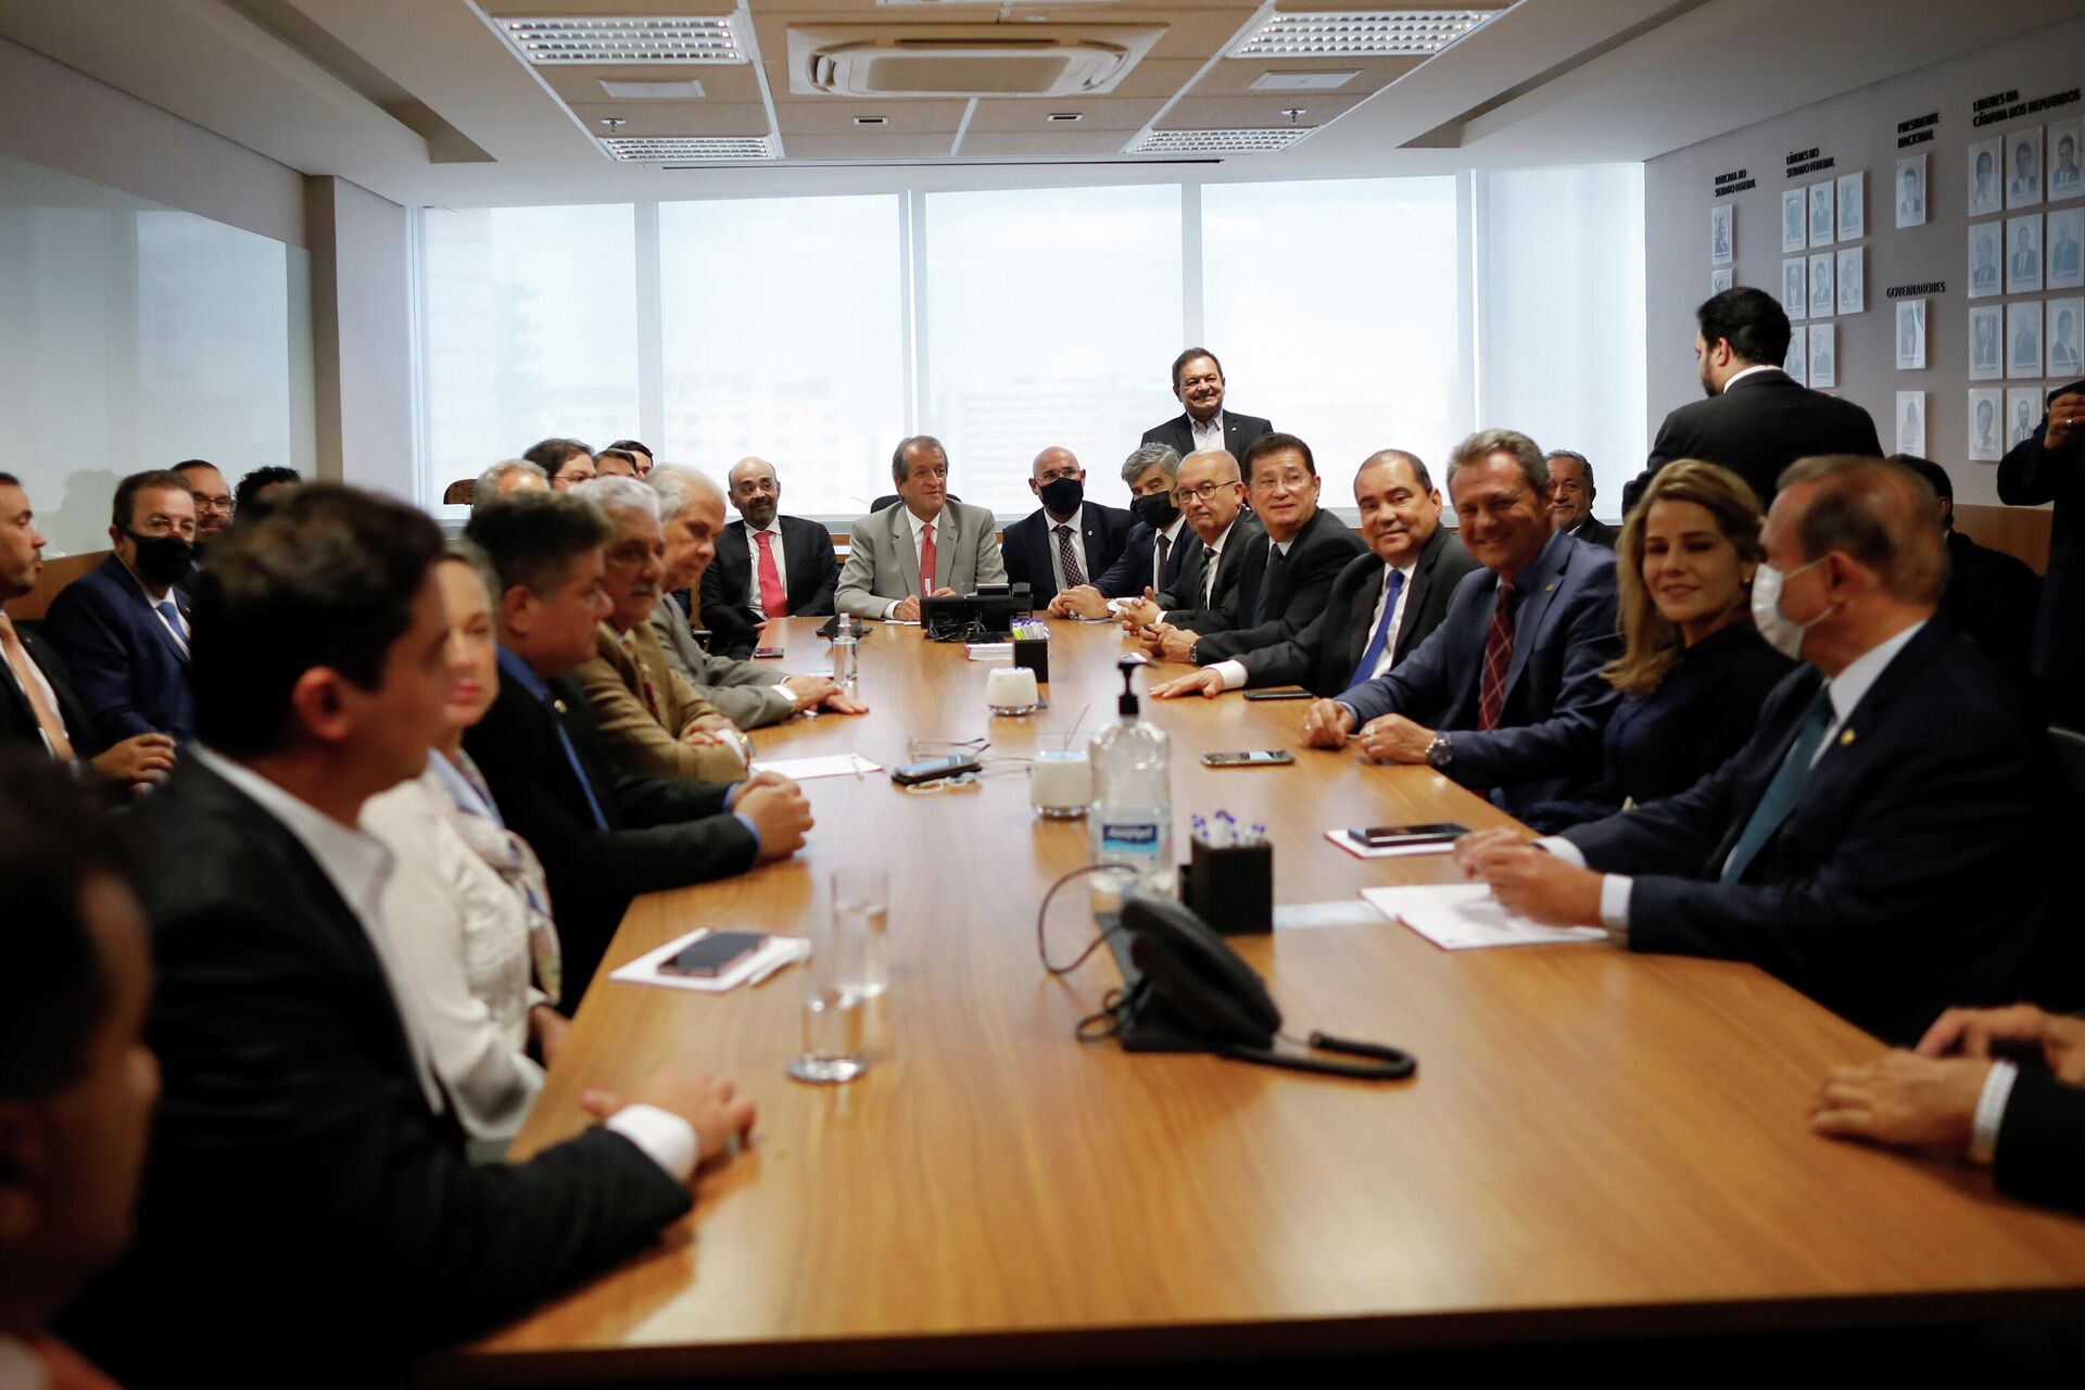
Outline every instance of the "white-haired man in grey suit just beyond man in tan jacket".
<path fill-rule="evenodd" d="M 830 709 L 859 715 L 867 706 L 840 694 L 826 675 L 786 675 L 751 661 L 713 656 L 696 644 L 688 615 L 673 602 L 673 590 L 698 590 L 703 571 L 717 554 L 723 531 L 723 490 L 707 475 L 673 463 L 661 463 L 644 479 L 659 494 L 659 515 L 665 525 L 665 575 L 653 609 L 653 631 L 671 669 L 688 677 L 694 692 L 715 704 L 740 729 L 780 723 L 796 711 Z"/>

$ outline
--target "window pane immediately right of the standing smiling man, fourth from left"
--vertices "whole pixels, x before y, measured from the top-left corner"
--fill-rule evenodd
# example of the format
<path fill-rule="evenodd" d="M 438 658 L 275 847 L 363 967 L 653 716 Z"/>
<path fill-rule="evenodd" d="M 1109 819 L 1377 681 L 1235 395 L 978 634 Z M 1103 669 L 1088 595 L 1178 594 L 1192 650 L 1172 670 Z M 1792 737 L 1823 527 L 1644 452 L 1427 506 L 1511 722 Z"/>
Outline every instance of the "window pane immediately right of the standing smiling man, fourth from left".
<path fill-rule="evenodd" d="M 1201 192 L 1205 342 L 1226 402 L 1301 436 L 1324 502 L 1407 448 L 1434 471 L 1468 431 L 1455 179 L 1218 183 Z"/>

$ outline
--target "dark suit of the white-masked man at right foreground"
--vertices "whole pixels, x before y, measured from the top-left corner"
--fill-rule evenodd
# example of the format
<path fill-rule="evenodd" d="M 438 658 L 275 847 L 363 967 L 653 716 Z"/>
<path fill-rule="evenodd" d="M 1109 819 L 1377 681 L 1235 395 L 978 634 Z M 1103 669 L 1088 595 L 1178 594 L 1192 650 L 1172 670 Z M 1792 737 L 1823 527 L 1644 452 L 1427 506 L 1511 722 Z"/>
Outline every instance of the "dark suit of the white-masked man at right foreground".
<path fill-rule="evenodd" d="M 2068 986 L 2033 969 L 2056 940 L 2039 942 L 2062 819 L 2047 736 L 1945 615 L 1824 744 L 1743 877 L 1718 882 L 1820 681 L 1793 671 L 1691 790 L 1564 831 L 1589 867 L 1635 875 L 1630 948 L 1751 961 L 1895 1044 L 1949 1004 Z"/>

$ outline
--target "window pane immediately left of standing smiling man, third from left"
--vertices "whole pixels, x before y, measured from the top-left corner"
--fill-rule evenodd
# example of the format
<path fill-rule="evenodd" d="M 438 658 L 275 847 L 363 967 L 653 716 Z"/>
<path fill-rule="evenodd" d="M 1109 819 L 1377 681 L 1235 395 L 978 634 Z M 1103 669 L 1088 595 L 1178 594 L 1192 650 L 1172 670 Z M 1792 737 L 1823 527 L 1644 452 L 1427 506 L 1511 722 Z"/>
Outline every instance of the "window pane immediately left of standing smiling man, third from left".
<path fill-rule="evenodd" d="M 949 488 L 1024 515 L 1030 461 L 1061 444 L 1088 496 L 1126 504 L 1122 458 L 1180 411 L 1180 190 L 930 194 L 926 250 L 922 429 L 949 446 Z"/>

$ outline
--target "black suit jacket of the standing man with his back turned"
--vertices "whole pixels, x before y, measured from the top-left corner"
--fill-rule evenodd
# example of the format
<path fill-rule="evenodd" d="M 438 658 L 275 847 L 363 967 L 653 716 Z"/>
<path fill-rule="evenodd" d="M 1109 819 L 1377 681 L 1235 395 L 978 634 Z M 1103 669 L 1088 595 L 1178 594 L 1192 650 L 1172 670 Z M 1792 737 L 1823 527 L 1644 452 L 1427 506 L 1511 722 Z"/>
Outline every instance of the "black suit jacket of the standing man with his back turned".
<path fill-rule="evenodd" d="M 1674 458 L 1720 463 L 1751 483 L 1760 506 L 1768 506 L 1781 471 L 1814 454 L 1881 458 L 1883 442 L 1874 421 L 1851 400 L 1797 386 L 1789 373 L 1768 367 L 1733 381 L 1720 396 L 1668 415 L 1643 473 L 1622 490 L 1622 511 L 1635 508 L 1651 473 Z"/>

